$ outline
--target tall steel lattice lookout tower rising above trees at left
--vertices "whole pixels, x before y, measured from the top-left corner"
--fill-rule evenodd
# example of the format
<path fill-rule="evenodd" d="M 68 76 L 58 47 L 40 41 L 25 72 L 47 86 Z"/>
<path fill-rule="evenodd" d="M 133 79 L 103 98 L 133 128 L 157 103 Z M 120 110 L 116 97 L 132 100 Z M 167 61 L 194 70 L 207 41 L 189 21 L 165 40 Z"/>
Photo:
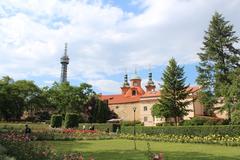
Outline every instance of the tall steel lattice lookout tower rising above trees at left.
<path fill-rule="evenodd" d="M 69 64 L 69 57 L 67 56 L 67 43 L 65 43 L 64 55 L 60 59 L 60 63 L 62 64 L 60 82 L 64 83 L 67 82 L 67 65 Z"/>

